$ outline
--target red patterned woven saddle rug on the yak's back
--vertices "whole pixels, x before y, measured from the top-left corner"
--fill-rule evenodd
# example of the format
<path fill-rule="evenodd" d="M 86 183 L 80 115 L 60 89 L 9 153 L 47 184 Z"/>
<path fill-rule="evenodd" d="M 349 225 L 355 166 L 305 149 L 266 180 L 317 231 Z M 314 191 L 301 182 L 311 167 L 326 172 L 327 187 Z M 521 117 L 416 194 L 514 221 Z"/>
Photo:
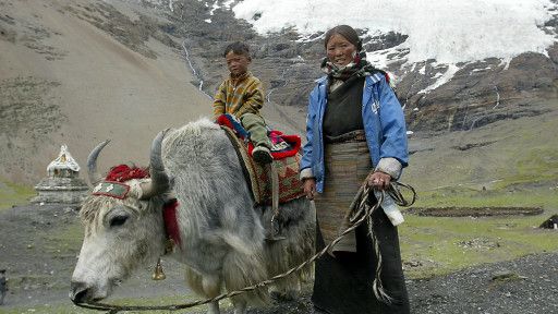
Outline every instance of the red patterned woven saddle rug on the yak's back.
<path fill-rule="evenodd" d="M 276 173 L 278 179 L 278 198 L 280 204 L 304 196 L 304 190 L 299 180 L 299 165 L 302 158 L 299 153 L 300 137 L 298 135 L 282 135 L 279 131 L 268 132 L 272 140 L 271 143 L 274 143 L 274 148 L 271 148 L 274 162 L 260 165 L 252 158 L 252 143 L 247 140 L 247 133 L 244 128 L 234 118 L 223 118 L 223 116 L 217 120 L 217 123 L 225 130 L 225 133 L 229 136 L 232 146 L 236 150 L 254 202 L 257 205 L 272 205 L 274 173 Z M 275 144 L 277 141 L 279 141 L 280 145 Z"/>

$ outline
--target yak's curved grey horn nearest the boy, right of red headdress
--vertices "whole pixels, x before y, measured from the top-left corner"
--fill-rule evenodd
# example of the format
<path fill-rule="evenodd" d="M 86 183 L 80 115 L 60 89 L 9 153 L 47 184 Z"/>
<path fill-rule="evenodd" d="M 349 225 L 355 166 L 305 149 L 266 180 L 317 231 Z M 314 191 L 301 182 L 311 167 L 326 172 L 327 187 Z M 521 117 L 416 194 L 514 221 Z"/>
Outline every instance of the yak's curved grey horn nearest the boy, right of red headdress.
<path fill-rule="evenodd" d="M 151 143 L 151 155 L 149 157 L 149 174 L 151 180 L 142 185 L 142 198 L 150 198 L 155 195 L 159 195 L 169 190 L 169 177 L 165 172 L 165 166 L 162 165 L 162 138 L 169 129 L 159 132 L 157 137 Z"/>

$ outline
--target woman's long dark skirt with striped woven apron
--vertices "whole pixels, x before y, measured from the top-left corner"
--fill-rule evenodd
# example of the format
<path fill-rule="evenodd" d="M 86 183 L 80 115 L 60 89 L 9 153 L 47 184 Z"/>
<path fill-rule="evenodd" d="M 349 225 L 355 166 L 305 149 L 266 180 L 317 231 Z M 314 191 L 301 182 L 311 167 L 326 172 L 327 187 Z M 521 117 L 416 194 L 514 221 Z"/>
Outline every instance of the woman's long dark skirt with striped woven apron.
<path fill-rule="evenodd" d="M 315 198 L 317 250 L 337 237 L 354 195 L 373 169 L 366 142 L 326 144 L 325 162 L 326 185 Z M 312 295 L 316 309 L 329 314 L 409 313 L 397 228 L 381 208 L 375 210 L 373 221 L 383 258 L 383 285 L 395 302 L 388 305 L 374 295 L 377 261 L 363 224 L 336 246 L 335 257 L 325 254 L 316 261 Z"/>

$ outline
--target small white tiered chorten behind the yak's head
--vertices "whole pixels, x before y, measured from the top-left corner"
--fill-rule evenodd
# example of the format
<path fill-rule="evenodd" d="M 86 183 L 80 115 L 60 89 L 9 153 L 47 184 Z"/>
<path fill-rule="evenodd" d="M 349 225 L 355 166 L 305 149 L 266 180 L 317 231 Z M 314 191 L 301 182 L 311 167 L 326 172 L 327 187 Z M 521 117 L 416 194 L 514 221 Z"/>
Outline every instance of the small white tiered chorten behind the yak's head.
<path fill-rule="evenodd" d="M 88 190 L 85 181 L 80 179 L 80 165 L 74 160 L 68 146 L 60 147 L 58 158 L 47 167 L 47 177 L 35 186 L 38 195 L 32 203 L 62 203 L 78 205 Z"/>

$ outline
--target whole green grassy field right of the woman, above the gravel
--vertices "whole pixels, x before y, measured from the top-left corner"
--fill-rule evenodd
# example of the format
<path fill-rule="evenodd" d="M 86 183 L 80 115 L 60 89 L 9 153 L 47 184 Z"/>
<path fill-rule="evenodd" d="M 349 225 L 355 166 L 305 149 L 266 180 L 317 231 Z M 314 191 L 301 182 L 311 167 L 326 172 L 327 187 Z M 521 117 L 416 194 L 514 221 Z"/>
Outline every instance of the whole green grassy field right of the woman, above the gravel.
<path fill-rule="evenodd" d="M 405 222 L 399 228 L 403 261 L 423 264 L 407 266 L 407 275 L 432 277 L 533 253 L 558 252 L 556 231 L 537 228 L 546 218 L 558 214 L 556 152 L 555 148 L 533 149 L 517 159 L 511 167 L 514 173 L 500 177 L 493 184 L 468 182 L 422 191 L 417 185 L 413 207 L 541 207 L 544 213 L 481 218 L 405 215 Z M 444 172 L 451 173 L 450 169 Z M 464 241 L 489 245 L 469 247 L 460 244 Z"/>

